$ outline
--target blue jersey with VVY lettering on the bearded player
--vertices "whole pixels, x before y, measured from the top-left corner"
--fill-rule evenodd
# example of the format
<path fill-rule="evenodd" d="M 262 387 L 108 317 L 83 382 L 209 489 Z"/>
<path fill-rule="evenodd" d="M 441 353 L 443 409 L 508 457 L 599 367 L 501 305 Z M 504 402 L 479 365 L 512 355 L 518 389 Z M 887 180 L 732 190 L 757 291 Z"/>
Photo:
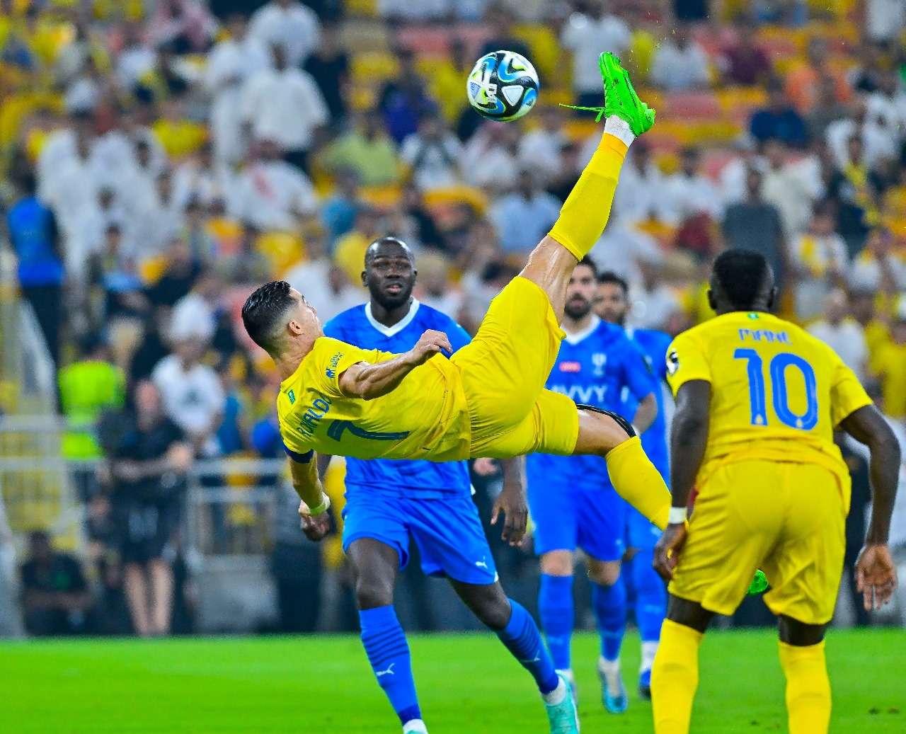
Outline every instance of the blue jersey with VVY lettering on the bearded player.
<path fill-rule="evenodd" d="M 567 336 L 560 345 L 548 390 L 562 392 L 577 403 L 623 414 L 624 391 L 638 404 L 657 385 L 645 360 L 622 327 L 597 317 L 585 333 Z M 632 413 L 626 414 L 632 420 Z M 528 461 L 529 482 L 574 482 L 610 486 L 603 459 L 593 456 L 556 457 L 535 454 Z"/>

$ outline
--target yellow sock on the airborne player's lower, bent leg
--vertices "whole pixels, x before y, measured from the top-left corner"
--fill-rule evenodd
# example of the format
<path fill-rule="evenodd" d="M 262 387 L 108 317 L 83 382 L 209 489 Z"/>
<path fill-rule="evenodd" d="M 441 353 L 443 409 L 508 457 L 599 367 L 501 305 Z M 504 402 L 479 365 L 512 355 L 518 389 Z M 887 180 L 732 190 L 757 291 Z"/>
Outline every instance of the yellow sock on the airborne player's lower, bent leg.
<path fill-rule="evenodd" d="M 607 452 L 607 473 L 617 494 L 663 530 L 670 515 L 670 490 L 633 436 Z"/>

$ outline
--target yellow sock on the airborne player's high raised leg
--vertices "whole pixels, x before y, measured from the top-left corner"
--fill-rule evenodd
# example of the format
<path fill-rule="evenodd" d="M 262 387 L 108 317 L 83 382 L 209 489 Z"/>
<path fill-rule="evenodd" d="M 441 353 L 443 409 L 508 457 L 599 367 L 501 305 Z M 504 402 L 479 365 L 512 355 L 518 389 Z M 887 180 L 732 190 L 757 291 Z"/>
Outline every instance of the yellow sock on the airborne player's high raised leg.
<path fill-rule="evenodd" d="M 588 255 L 607 225 L 626 150 L 626 144 L 619 138 L 608 132 L 601 136 L 598 150 L 594 151 L 548 233 L 573 253 L 576 260 Z"/>

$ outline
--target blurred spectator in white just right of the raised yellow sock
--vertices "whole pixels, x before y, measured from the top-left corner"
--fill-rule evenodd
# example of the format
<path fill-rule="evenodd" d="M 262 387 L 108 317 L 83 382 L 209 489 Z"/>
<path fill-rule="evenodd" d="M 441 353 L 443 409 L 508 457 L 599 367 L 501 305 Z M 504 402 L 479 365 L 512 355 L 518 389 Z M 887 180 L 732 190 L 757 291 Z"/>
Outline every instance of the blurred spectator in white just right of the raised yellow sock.
<path fill-rule="evenodd" d="M 613 212 L 626 224 L 654 219 L 674 223 L 676 212 L 669 196 L 665 196 L 666 183 L 657 164 L 651 158 L 647 141 L 633 145 L 623 164 L 620 183 L 613 197 Z"/>

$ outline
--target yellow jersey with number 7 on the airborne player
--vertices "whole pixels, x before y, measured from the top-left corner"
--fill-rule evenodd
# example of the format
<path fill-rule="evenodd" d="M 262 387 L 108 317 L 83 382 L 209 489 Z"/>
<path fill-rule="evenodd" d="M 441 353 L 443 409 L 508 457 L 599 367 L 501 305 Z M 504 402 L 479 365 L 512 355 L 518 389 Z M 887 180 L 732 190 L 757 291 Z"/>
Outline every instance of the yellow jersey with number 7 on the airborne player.
<path fill-rule="evenodd" d="M 284 446 L 356 459 L 468 459 L 471 428 L 458 367 L 441 354 L 371 401 L 340 389 L 340 375 L 359 362 L 396 354 L 322 336 L 280 384 L 277 417 Z"/>

